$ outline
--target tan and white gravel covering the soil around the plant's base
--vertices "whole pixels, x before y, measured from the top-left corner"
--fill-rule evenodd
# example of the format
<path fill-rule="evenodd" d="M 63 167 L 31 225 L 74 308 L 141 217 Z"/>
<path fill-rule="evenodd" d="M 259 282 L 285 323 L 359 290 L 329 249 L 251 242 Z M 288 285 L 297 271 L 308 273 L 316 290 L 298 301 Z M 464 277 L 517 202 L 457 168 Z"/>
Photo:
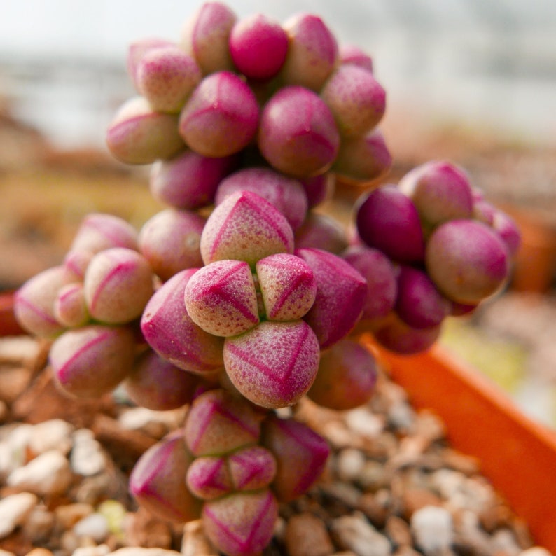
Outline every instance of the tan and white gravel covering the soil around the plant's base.
<path fill-rule="evenodd" d="M 137 508 L 127 475 L 184 410 L 122 396 L 75 401 L 57 390 L 48 345 L 0 338 L 0 556 L 213 556 L 200 522 L 176 526 Z M 296 408 L 333 449 L 317 487 L 283 506 L 265 556 L 548 556 L 527 524 L 381 374 L 348 412 Z"/>

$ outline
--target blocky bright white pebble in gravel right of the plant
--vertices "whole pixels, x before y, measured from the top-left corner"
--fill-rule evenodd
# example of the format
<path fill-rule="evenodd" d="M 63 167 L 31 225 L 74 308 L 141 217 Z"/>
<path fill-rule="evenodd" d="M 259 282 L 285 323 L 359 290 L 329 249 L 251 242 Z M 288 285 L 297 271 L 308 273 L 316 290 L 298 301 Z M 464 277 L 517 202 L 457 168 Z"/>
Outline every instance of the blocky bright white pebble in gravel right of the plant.
<path fill-rule="evenodd" d="M 420 508 L 411 516 L 410 526 L 415 543 L 425 554 L 450 548 L 454 541 L 452 515 L 445 508 Z"/>

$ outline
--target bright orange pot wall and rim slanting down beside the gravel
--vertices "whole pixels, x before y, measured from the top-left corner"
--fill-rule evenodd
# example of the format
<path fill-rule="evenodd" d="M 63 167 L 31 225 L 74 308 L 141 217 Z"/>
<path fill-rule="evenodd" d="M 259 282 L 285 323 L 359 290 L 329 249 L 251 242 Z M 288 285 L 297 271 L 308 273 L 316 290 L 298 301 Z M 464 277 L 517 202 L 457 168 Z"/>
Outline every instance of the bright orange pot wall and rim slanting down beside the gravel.
<path fill-rule="evenodd" d="M 480 461 L 536 543 L 556 553 L 556 432 L 529 419 L 499 387 L 442 347 L 401 356 L 377 347 L 370 335 L 363 341 L 412 405 L 436 412 L 450 443 Z"/>

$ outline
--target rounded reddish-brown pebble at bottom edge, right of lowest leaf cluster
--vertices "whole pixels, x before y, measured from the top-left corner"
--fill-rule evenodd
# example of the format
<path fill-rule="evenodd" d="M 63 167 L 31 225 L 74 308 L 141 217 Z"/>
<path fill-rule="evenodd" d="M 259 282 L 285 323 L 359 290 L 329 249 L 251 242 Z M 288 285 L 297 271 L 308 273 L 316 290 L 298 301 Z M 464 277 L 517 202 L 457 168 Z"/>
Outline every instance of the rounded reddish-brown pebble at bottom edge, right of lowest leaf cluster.
<path fill-rule="evenodd" d="M 290 556 L 327 556 L 334 552 L 324 522 L 311 513 L 291 517 L 284 542 Z"/>

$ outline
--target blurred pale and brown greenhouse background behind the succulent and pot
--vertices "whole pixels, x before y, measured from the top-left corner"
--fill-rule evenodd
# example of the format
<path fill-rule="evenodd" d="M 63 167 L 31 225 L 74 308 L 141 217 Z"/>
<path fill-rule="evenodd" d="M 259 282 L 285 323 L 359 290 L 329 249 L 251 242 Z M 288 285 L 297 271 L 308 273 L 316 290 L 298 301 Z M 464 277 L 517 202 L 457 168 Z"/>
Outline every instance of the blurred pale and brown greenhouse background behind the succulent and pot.
<path fill-rule="evenodd" d="M 146 169 L 104 132 L 134 94 L 127 46 L 178 40 L 200 1 L 0 0 L 0 289 L 57 264 L 83 216 L 140 225 Z M 318 13 L 373 56 L 387 90 L 388 179 L 431 158 L 465 167 L 522 226 L 515 278 L 443 342 L 556 426 L 556 2 L 230 0 L 239 17 Z"/>

